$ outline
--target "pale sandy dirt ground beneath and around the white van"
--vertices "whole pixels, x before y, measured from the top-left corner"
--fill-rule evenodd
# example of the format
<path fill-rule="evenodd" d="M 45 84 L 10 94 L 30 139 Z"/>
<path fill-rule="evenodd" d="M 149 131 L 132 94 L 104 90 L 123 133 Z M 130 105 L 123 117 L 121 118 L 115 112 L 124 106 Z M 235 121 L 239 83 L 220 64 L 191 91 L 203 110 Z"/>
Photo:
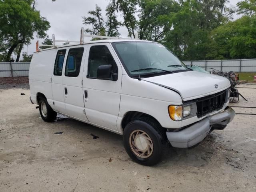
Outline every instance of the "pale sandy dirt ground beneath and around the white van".
<path fill-rule="evenodd" d="M 256 107 L 256 89 L 239 91 L 249 102 L 231 106 Z M 1 192 L 256 191 L 255 115 L 236 115 L 198 146 L 170 147 L 162 162 L 146 167 L 129 158 L 118 134 L 64 116 L 44 122 L 29 96 L 23 86 L 0 87 Z"/>

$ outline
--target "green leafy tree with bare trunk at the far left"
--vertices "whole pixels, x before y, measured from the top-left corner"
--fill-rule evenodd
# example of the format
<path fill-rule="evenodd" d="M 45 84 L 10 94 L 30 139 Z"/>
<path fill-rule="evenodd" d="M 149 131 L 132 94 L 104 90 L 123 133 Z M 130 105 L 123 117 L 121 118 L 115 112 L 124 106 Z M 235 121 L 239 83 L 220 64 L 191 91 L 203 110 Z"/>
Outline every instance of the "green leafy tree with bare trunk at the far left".
<path fill-rule="evenodd" d="M 14 49 L 20 44 L 30 44 L 33 34 L 38 38 L 46 36 L 45 31 L 50 28 L 46 18 L 40 16 L 39 11 L 32 7 L 32 0 L 1 0 L 0 1 L 0 36 L 10 47 L 6 54 L 6 61 Z"/>

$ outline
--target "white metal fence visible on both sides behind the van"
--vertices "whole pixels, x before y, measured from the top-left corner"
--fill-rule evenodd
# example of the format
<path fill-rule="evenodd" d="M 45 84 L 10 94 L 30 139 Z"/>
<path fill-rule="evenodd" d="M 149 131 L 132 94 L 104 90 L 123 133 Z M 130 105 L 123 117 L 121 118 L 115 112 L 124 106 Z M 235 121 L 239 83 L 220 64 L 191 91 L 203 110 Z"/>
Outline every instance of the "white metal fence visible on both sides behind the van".
<path fill-rule="evenodd" d="M 256 59 L 183 61 L 186 65 L 197 65 L 207 71 L 256 72 Z M 0 62 L 0 77 L 28 76 L 30 62 Z"/>

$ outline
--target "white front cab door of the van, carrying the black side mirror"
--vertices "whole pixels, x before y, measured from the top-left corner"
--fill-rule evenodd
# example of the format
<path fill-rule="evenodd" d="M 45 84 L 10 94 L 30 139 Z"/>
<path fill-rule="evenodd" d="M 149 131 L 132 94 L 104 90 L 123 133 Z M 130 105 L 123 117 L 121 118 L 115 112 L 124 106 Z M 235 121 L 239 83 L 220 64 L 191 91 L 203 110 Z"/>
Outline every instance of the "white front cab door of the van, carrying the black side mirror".
<path fill-rule="evenodd" d="M 109 43 L 88 44 L 87 50 L 83 78 L 86 117 L 93 124 L 117 131 L 122 68 Z M 111 65 L 117 80 L 98 79 L 97 69 L 102 65 Z"/>

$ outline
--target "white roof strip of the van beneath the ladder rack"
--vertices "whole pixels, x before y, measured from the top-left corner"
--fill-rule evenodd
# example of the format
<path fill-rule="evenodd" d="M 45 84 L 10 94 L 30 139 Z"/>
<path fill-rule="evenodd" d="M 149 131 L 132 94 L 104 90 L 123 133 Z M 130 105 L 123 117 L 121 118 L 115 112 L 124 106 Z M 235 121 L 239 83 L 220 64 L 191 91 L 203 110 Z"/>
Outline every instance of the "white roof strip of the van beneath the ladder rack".
<path fill-rule="evenodd" d="M 84 42 L 83 44 L 80 43 L 72 43 L 72 44 L 67 44 L 67 45 L 58 45 L 56 47 L 51 47 L 51 48 L 46 48 L 42 49 L 39 52 L 45 51 L 45 50 L 52 50 L 52 49 L 57 49 L 57 48 L 62 48 L 62 47 L 70 47 L 70 46 L 77 46 L 77 45 L 84 45 L 84 44 L 94 44 L 94 43 L 113 43 L 113 42 L 153 42 L 153 41 L 148 41 L 148 40 L 136 40 L 136 39 L 106 39 L 106 40 L 95 40 L 95 41 L 87 41 Z M 41 45 L 44 46 L 44 45 Z M 37 53 L 37 52 L 34 52 Z"/>

